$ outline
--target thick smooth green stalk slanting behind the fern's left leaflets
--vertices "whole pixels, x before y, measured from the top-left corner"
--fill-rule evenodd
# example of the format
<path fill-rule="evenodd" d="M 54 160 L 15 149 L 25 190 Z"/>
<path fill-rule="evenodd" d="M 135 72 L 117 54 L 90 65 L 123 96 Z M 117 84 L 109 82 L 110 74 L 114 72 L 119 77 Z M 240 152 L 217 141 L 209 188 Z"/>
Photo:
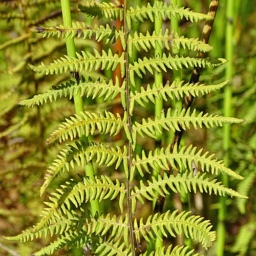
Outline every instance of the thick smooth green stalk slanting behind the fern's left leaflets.
<path fill-rule="evenodd" d="M 70 4 L 69 0 L 60 0 L 61 2 L 61 10 L 62 10 L 62 17 L 63 17 L 63 26 L 72 27 L 71 22 L 71 12 L 70 12 Z M 74 38 L 71 36 L 66 37 L 66 47 L 67 47 L 67 54 L 70 57 L 77 57 L 75 52 L 75 43 Z M 73 74 L 74 78 L 76 78 L 77 82 L 79 82 L 79 73 L 78 71 L 71 71 L 71 75 Z M 80 115 L 80 111 L 83 111 L 83 100 L 80 97 L 80 93 L 78 92 L 76 96 L 74 96 L 74 103 L 75 103 L 75 112 L 76 114 Z M 86 136 L 81 136 L 80 140 L 89 144 L 89 140 Z M 86 175 L 94 179 L 94 169 L 92 162 L 88 163 L 85 167 Z M 99 209 L 99 202 L 98 200 L 93 200 L 90 202 L 92 215 L 96 214 L 96 211 L 100 213 Z"/>

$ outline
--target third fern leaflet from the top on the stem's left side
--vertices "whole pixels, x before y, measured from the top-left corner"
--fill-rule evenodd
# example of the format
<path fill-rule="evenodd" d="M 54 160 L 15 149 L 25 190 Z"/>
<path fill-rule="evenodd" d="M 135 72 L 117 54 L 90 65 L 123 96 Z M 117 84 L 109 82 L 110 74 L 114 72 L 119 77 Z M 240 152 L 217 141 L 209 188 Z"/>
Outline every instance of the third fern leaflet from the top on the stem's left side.
<path fill-rule="evenodd" d="M 81 54 L 76 53 L 77 58 L 69 57 L 64 55 L 65 57 L 60 57 L 60 59 L 54 60 L 49 66 L 46 66 L 43 62 L 39 66 L 33 66 L 29 64 L 29 67 L 38 73 L 41 74 L 58 74 L 62 72 L 70 71 L 79 71 L 81 72 L 84 68 L 84 71 L 92 71 L 98 70 L 101 66 L 101 70 L 115 70 L 120 63 L 121 74 L 124 76 L 125 71 L 125 61 L 124 61 L 124 52 L 119 57 L 117 53 L 113 55 L 111 49 L 106 53 L 102 50 L 102 54 L 100 54 L 96 49 L 93 49 L 95 55 L 82 51 Z"/>

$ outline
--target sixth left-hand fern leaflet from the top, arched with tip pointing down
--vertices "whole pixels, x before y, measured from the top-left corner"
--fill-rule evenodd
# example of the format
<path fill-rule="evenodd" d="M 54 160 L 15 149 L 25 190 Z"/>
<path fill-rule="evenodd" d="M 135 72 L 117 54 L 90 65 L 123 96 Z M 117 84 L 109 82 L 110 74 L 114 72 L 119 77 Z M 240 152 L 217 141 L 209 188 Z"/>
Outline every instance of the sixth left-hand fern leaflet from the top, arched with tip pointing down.
<path fill-rule="evenodd" d="M 84 164 L 91 161 L 95 155 L 97 156 L 97 164 L 106 164 L 106 166 L 111 166 L 114 162 L 116 162 L 116 169 L 123 161 L 124 170 L 127 175 L 128 157 L 127 148 L 125 145 L 123 146 L 122 153 L 119 146 L 116 146 L 115 148 L 103 145 L 102 143 L 99 145 L 96 143 L 91 143 L 91 145 L 88 146 L 88 144 L 84 143 L 83 141 L 76 141 L 75 144 L 76 147 L 69 145 L 70 150 L 61 151 L 60 155 L 58 155 L 58 158 L 54 160 L 52 166 L 48 168 L 48 173 L 45 175 L 45 182 L 40 188 L 41 196 L 45 193 L 46 189 L 58 175 L 66 172 L 66 170 L 69 171 L 70 166 L 74 168 L 75 162 L 78 166 L 84 166 Z"/>

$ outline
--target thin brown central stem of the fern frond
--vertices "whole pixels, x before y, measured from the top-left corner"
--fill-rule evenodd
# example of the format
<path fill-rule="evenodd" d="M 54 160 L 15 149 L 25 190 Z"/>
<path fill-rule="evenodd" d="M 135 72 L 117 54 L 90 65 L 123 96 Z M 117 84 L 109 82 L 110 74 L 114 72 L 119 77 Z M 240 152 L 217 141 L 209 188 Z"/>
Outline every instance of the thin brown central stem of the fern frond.
<path fill-rule="evenodd" d="M 125 79 L 126 79 L 126 111 L 128 116 L 128 125 L 129 131 L 132 135 L 132 121 L 131 121 L 131 114 L 130 114 L 130 86 L 129 86 L 129 56 L 128 56 L 128 49 L 127 49 L 127 19 L 126 19 L 126 10 L 127 10 L 127 0 L 124 0 L 124 11 L 123 11 L 123 31 L 124 31 L 124 38 L 126 42 L 126 49 L 125 49 Z M 132 221 L 132 200 L 131 200 L 131 189 L 130 189 L 130 178 L 131 178 L 131 165 L 132 165 L 132 143 L 129 141 L 129 160 L 128 160 L 128 170 L 129 174 L 127 177 L 126 182 L 126 195 L 127 195 L 127 213 L 129 218 L 129 232 L 131 238 L 131 247 L 132 247 L 132 256 L 135 256 L 135 244 L 134 244 L 134 228 L 133 228 L 133 221 Z"/>

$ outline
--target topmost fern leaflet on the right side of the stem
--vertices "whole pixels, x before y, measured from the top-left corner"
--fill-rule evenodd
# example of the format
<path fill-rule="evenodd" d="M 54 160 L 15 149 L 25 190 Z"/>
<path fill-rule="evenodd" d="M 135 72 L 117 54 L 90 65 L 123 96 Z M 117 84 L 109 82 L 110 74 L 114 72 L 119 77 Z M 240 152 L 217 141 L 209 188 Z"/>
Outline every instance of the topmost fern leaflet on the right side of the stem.
<path fill-rule="evenodd" d="M 130 10 L 127 10 L 126 18 L 127 18 L 127 26 L 129 29 L 132 27 L 132 20 L 133 22 L 143 22 L 144 18 L 150 18 L 152 22 L 154 22 L 155 17 L 157 19 L 163 18 L 171 19 L 172 17 L 177 18 L 179 15 L 181 18 L 185 17 L 187 20 L 191 22 L 198 22 L 200 20 L 209 20 L 212 19 L 211 16 L 203 13 L 197 13 L 191 11 L 189 8 L 173 6 L 172 4 L 168 5 L 167 2 L 155 2 L 153 6 L 150 3 L 147 3 L 147 6 L 139 7 L 137 6 L 136 9 L 133 7 Z"/>

